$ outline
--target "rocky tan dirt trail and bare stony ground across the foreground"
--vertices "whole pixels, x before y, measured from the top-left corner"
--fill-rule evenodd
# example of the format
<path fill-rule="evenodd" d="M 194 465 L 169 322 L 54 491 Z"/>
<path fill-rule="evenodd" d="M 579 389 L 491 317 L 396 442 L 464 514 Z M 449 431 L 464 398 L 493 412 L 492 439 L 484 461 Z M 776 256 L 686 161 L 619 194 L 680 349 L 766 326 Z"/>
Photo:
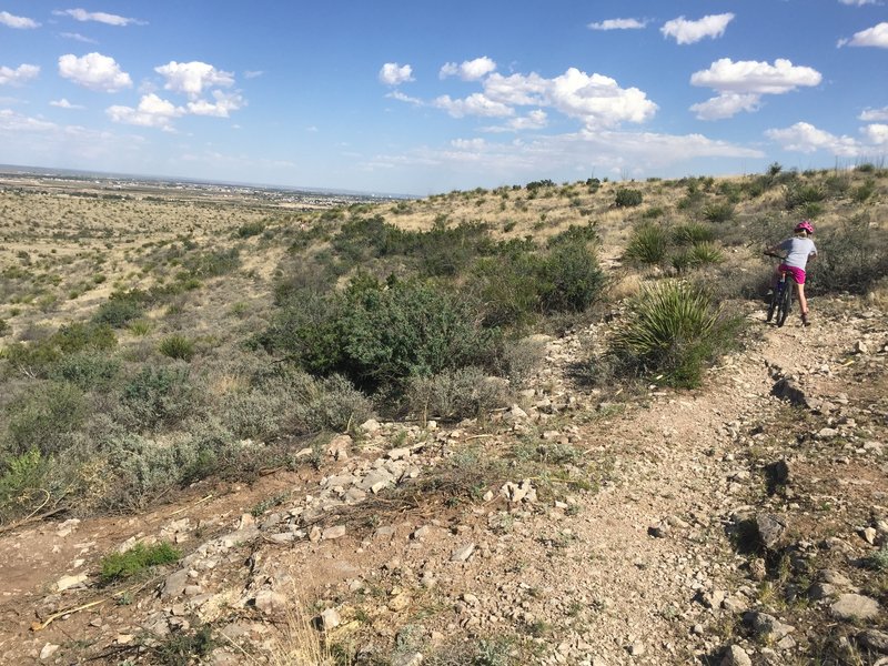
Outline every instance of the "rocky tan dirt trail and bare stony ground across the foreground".
<path fill-rule="evenodd" d="M 824 303 L 810 329 L 749 317 L 747 349 L 698 391 L 604 402 L 614 398 L 571 373 L 597 344 L 592 327 L 548 340 L 537 389 L 484 426 L 371 422 L 362 442 L 334 440 L 317 470 L 152 516 L 0 535 L 4 663 L 163 663 L 158 646 L 201 626 L 215 636 L 204 663 L 301 663 L 280 660 L 294 633 L 314 632 L 293 608 L 357 648 L 357 663 L 472 663 L 461 655 L 482 640 L 512 663 L 811 663 L 818 629 L 793 626 L 794 607 L 763 594 L 786 538 L 768 543 L 767 519 L 815 541 L 815 493 L 831 493 L 828 538 L 845 545 L 833 543 L 830 562 L 850 566 L 888 538 L 884 519 L 866 523 L 888 504 L 888 321 L 856 301 Z M 506 465 L 482 477 L 472 502 L 430 492 L 517 441 L 562 456 L 568 476 L 523 476 L 513 461 L 515 476 Z M 780 461 L 795 491 L 769 495 L 768 464 Z M 581 475 L 591 490 L 568 483 Z M 746 547 L 750 524 L 760 533 Z M 171 539 L 185 557 L 125 594 L 98 588 L 99 556 L 133 537 Z M 867 592 L 859 567 L 849 576 L 805 612 L 864 596 L 875 610 L 844 618 L 846 634 L 876 644 L 885 610 L 840 596 Z M 848 663 L 878 663 L 877 648 L 847 647 L 864 655 Z"/>

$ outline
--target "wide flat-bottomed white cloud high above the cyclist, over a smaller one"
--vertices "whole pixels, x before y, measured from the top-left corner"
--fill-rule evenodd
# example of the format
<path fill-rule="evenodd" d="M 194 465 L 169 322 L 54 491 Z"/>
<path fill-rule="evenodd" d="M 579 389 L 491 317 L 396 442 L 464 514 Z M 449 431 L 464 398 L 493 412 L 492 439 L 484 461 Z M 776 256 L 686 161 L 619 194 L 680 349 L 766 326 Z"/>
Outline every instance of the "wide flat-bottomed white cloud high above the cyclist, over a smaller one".
<path fill-rule="evenodd" d="M 734 62 L 730 58 L 716 60 L 708 70 L 690 75 L 693 85 L 713 88 L 719 92 L 780 94 L 800 85 L 818 85 L 823 77 L 809 67 L 796 67 L 778 58 L 774 64 L 756 60 Z"/>

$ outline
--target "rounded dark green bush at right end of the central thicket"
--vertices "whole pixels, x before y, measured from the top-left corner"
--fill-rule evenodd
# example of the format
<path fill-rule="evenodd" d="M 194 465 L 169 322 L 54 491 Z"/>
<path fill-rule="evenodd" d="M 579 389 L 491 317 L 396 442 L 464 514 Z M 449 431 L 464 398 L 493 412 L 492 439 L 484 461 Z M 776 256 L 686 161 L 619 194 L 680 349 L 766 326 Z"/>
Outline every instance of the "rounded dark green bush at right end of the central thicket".
<path fill-rule="evenodd" d="M 601 299 L 605 275 L 598 259 L 583 242 L 562 242 L 537 271 L 543 312 L 583 312 Z"/>

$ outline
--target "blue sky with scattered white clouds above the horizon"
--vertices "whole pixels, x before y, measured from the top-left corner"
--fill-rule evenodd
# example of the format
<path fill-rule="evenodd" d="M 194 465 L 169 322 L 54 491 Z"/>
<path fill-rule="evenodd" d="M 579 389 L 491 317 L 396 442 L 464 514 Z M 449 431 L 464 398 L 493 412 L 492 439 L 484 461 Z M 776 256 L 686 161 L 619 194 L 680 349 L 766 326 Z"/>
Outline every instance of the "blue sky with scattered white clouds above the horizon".
<path fill-rule="evenodd" d="M 0 163 L 431 194 L 882 161 L 888 0 L 0 0 Z"/>

